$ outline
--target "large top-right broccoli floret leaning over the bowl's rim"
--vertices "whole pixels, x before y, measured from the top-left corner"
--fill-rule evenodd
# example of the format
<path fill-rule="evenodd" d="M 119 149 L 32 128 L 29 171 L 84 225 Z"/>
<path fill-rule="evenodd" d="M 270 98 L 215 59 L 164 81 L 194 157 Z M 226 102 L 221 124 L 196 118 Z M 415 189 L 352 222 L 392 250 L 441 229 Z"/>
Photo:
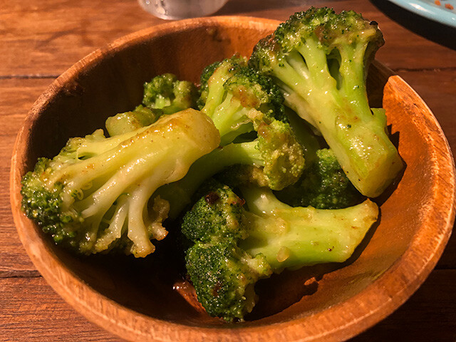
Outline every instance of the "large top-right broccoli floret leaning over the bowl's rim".
<path fill-rule="evenodd" d="M 318 128 L 368 197 L 380 195 L 403 167 L 384 112 L 371 111 L 366 95 L 368 66 L 383 43 L 377 24 L 361 14 L 311 8 L 259 41 L 249 60 L 274 77 L 285 105 Z"/>

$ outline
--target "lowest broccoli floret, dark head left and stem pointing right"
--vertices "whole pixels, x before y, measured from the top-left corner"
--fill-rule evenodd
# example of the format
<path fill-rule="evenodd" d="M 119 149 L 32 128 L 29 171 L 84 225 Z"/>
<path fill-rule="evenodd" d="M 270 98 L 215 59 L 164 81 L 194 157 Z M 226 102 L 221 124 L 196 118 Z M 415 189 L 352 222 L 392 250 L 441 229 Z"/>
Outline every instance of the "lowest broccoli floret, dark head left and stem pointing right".
<path fill-rule="evenodd" d="M 346 261 L 378 217 L 369 199 L 346 209 L 294 208 L 268 188 L 241 192 L 244 199 L 219 185 L 182 222 L 194 242 L 185 259 L 197 298 L 226 321 L 252 311 L 254 284 L 272 272 Z"/>

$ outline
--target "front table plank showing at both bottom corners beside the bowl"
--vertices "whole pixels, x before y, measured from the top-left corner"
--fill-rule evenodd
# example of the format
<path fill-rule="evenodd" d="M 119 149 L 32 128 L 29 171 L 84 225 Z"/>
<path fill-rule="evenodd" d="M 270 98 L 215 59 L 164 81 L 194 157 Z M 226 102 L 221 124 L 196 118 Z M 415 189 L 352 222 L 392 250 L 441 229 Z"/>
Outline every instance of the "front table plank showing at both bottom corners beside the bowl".
<path fill-rule="evenodd" d="M 434 271 L 398 311 L 351 341 L 455 341 L 456 306 L 448 306 L 455 282 L 455 270 Z M 124 341 L 88 322 L 41 277 L 0 279 L 0 308 L 1 341 Z"/>

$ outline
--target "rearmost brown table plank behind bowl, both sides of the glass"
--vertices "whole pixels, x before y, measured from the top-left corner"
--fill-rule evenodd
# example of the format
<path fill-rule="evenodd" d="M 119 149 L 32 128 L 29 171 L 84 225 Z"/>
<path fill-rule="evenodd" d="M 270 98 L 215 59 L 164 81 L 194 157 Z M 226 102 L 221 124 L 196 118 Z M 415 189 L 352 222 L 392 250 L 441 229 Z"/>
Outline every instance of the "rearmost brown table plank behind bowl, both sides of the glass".
<path fill-rule="evenodd" d="M 455 68 L 456 53 L 425 40 L 387 19 L 369 1 L 244 1 L 232 0 L 217 14 L 287 19 L 311 4 L 333 6 L 337 11 L 355 9 L 378 21 L 386 45 L 378 53 L 390 68 Z M 292 6 L 294 5 L 294 6 Z M 259 10 L 261 9 L 261 10 Z M 0 12 L 0 76 L 58 76 L 88 53 L 125 34 L 163 22 L 135 1 L 11 0 Z M 20 58 L 16 56 L 20 51 Z M 398 51 L 401 51 L 399 54 Z M 447 53 L 446 58 L 442 58 Z M 421 56 L 421 58 L 416 58 Z M 451 58 L 452 56 L 452 58 Z"/>

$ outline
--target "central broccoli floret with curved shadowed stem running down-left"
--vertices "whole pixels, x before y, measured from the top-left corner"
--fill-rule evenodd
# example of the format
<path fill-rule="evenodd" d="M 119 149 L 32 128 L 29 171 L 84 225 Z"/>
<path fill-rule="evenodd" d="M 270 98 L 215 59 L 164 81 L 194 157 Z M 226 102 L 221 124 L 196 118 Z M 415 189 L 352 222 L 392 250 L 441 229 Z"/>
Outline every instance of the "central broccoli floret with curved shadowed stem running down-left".
<path fill-rule="evenodd" d="M 244 168 L 239 169 L 238 165 Z M 255 182 L 282 190 L 299 180 L 303 168 L 302 147 L 289 124 L 274 120 L 270 125 L 259 126 L 255 140 L 232 142 L 199 158 L 182 180 L 160 187 L 157 194 L 170 202 L 170 217 L 175 218 L 190 204 L 204 180 L 224 170 L 224 177 L 237 183 Z"/>

